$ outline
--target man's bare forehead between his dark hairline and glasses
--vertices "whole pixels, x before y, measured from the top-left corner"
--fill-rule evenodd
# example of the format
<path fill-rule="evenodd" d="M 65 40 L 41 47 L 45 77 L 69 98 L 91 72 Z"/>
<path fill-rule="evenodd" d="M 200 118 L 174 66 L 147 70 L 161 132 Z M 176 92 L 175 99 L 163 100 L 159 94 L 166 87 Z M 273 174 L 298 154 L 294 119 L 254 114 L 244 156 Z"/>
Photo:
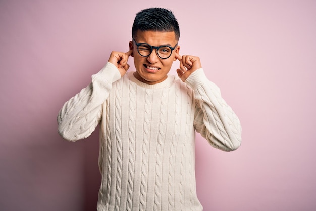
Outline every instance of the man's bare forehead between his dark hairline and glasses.
<path fill-rule="evenodd" d="M 174 31 L 140 31 L 138 30 L 134 37 L 137 43 L 148 43 L 152 46 L 176 45 L 176 35 Z"/>

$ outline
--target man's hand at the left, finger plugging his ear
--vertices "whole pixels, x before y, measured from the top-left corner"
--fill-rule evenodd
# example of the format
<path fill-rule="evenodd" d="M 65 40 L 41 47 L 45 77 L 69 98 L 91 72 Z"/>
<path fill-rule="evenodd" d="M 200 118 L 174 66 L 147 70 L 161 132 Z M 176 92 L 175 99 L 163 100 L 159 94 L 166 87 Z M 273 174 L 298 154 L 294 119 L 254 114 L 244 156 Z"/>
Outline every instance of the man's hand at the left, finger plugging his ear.
<path fill-rule="evenodd" d="M 110 54 L 110 58 L 108 62 L 114 64 L 121 73 L 121 76 L 125 75 L 126 71 L 129 68 L 129 64 L 127 64 L 128 57 L 133 54 L 133 50 L 130 50 L 126 53 L 112 51 Z"/>

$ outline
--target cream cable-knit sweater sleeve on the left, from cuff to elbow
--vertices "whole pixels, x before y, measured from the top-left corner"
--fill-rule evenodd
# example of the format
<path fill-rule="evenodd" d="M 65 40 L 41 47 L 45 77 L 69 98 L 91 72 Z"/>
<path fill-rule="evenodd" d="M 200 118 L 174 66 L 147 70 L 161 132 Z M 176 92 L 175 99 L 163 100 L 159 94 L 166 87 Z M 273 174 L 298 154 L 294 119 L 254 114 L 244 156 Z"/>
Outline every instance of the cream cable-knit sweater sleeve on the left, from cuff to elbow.
<path fill-rule="evenodd" d="M 77 141 L 88 137 L 95 130 L 112 83 L 120 78 L 120 72 L 110 62 L 92 75 L 92 82 L 67 101 L 58 113 L 58 132 L 62 138 Z"/>

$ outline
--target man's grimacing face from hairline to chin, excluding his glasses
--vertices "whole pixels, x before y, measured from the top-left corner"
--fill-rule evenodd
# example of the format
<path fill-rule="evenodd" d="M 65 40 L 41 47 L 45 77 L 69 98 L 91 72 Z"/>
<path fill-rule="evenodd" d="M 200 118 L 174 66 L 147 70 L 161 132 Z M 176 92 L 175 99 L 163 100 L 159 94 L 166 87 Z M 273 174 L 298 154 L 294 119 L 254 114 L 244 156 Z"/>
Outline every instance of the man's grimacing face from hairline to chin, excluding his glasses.
<path fill-rule="evenodd" d="M 160 31 L 138 31 L 134 37 L 137 43 L 148 43 L 151 46 L 168 45 L 174 47 L 178 42 L 176 40 L 175 32 L 160 32 Z M 175 53 L 179 53 L 180 46 L 176 46 L 175 50 L 167 59 L 161 59 L 153 49 L 148 57 L 139 55 L 137 46 L 134 41 L 129 43 L 130 50 L 133 49 L 134 64 L 136 72 L 134 76 L 148 84 L 155 84 L 162 82 L 167 78 L 171 65 L 177 59 Z"/>

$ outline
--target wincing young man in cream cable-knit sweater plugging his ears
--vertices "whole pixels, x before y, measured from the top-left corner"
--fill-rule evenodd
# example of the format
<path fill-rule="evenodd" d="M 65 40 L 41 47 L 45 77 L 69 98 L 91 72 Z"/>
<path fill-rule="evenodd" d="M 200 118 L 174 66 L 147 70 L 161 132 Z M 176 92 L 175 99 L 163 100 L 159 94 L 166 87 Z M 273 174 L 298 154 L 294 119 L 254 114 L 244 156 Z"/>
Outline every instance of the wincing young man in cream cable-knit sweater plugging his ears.
<path fill-rule="evenodd" d="M 88 137 L 100 124 L 97 210 L 202 210 L 195 188 L 195 131 L 213 147 L 237 149 L 237 116 L 196 56 L 180 56 L 170 10 L 136 15 L 126 53 L 113 51 L 89 86 L 58 114 L 60 135 Z M 136 71 L 127 64 L 134 57 Z M 178 77 L 167 75 L 180 61 Z"/>

